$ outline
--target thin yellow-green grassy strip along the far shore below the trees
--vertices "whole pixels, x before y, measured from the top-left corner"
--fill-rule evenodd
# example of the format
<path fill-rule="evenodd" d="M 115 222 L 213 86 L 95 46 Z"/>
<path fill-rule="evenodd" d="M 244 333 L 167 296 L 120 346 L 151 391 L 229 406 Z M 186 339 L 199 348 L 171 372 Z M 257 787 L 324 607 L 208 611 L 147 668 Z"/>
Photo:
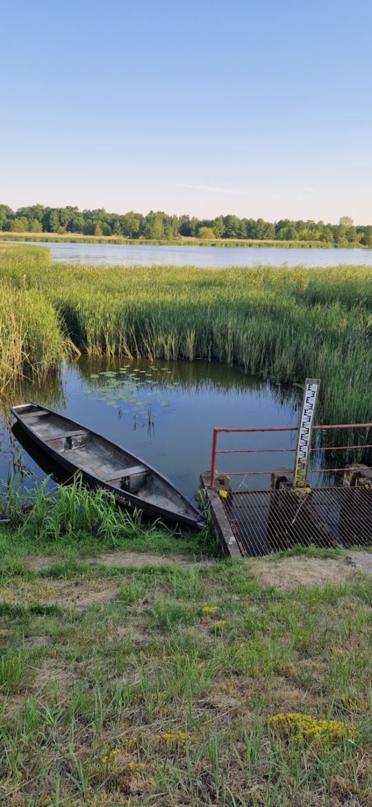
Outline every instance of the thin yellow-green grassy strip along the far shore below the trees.
<path fill-rule="evenodd" d="M 329 243 L 327 241 L 300 240 L 258 240 L 249 238 L 196 238 L 180 236 L 167 240 L 150 238 L 124 238 L 122 236 L 82 236 L 72 232 L 60 235 L 57 232 L 0 232 L 2 241 L 52 241 L 65 244 L 132 244 L 154 246 L 189 246 L 189 247 L 278 247 L 279 249 L 370 249 L 356 242 Z"/>

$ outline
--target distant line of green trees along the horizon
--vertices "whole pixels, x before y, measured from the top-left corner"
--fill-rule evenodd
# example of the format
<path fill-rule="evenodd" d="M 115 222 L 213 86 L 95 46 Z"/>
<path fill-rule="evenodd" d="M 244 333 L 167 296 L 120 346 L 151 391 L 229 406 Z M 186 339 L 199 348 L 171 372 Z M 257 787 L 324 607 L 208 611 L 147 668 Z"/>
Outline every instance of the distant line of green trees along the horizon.
<path fill-rule="evenodd" d="M 12 211 L 0 205 L 0 230 L 5 232 L 65 232 L 86 236 L 121 236 L 123 238 L 174 240 L 180 236 L 200 239 L 235 238 L 253 240 L 321 241 L 337 246 L 361 244 L 372 246 L 372 225 L 354 225 L 349 216 L 339 224 L 323 221 L 292 221 L 275 223 L 263 219 L 238 219 L 237 215 L 219 215 L 216 219 L 196 219 L 189 215 L 167 215 L 150 211 L 147 215 L 130 211 L 124 215 L 99 210 L 78 210 L 77 207 L 19 207 Z"/>

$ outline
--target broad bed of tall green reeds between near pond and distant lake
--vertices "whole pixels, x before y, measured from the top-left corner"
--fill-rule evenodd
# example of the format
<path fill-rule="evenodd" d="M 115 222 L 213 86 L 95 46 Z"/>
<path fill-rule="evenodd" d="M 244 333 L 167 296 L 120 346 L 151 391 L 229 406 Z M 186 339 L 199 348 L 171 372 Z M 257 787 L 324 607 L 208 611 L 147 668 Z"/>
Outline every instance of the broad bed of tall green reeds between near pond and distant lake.
<path fill-rule="evenodd" d="M 65 334 L 92 355 L 238 362 L 278 382 L 319 376 L 319 418 L 370 420 L 367 267 L 57 268 L 46 250 L 2 245 L 0 278 L 42 294 Z"/>

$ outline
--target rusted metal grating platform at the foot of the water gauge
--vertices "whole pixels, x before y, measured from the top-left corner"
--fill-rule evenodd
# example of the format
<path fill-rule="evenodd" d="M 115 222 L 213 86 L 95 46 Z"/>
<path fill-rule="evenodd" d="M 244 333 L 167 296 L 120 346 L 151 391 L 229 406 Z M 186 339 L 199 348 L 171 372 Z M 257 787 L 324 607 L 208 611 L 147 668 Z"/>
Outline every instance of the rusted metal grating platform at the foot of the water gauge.
<path fill-rule="evenodd" d="M 291 546 L 372 546 L 372 487 L 317 487 L 311 493 L 229 491 L 221 499 L 242 554 Z"/>

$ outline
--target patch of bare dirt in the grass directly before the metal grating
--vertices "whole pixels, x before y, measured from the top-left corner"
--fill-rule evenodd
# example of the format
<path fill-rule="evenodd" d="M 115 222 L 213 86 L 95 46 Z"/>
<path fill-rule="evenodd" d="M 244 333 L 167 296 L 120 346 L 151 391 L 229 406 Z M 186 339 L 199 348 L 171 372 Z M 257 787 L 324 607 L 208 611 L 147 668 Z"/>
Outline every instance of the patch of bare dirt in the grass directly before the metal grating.
<path fill-rule="evenodd" d="M 281 591 L 291 591 L 298 586 L 334 586 L 355 573 L 346 558 L 259 558 L 251 563 L 261 586 L 275 586 Z"/>

